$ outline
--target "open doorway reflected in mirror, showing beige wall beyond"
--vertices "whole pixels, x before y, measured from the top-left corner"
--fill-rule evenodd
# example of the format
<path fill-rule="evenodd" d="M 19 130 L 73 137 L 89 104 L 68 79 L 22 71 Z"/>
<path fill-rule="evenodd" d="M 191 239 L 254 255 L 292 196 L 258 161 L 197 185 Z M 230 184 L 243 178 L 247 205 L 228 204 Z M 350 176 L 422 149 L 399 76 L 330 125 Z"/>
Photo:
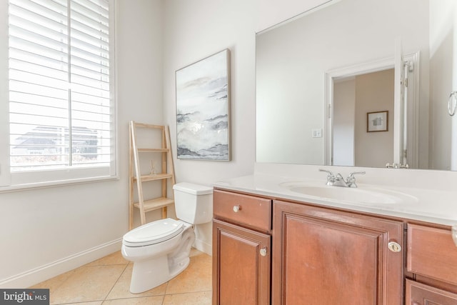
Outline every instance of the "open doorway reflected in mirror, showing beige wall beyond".
<path fill-rule="evenodd" d="M 379 111 L 386 111 L 386 117 L 369 117 Z M 386 160 L 393 160 L 393 120 L 389 115 L 393 116 L 393 69 L 333 81 L 331 164 L 383 167 Z M 370 121 L 373 124 L 369 125 Z"/>

